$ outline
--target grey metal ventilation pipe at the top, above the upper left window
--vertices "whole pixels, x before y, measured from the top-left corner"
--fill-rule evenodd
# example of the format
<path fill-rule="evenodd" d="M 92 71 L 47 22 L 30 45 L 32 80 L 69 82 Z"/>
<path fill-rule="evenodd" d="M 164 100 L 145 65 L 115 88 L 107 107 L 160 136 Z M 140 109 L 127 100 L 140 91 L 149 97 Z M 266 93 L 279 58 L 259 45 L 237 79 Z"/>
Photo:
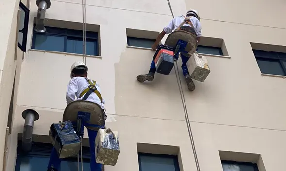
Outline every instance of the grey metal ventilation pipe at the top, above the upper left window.
<path fill-rule="evenodd" d="M 38 6 L 38 12 L 37 12 L 36 26 L 34 30 L 36 32 L 43 33 L 46 32 L 44 24 L 46 10 L 50 8 L 51 2 L 50 0 L 37 0 L 36 4 Z"/>

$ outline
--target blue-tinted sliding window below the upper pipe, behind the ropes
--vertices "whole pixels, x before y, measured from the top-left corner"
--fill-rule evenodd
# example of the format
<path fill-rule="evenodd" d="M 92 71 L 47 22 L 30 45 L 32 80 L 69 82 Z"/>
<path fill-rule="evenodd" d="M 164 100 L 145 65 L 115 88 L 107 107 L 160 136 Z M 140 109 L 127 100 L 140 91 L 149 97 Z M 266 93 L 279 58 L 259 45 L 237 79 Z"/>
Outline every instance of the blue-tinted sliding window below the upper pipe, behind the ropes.
<path fill-rule="evenodd" d="M 83 54 L 83 31 L 46 27 L 34 31 L 32 49 Z M 98 56 L 98 32 L 86 31 L 86 54 Z"/>

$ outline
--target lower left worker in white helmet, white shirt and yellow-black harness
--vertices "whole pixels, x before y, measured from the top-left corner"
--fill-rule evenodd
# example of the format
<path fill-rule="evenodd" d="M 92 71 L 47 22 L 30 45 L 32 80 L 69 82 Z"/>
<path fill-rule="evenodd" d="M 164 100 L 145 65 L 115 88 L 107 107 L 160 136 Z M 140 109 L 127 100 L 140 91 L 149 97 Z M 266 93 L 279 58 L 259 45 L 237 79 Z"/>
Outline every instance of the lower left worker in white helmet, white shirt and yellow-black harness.
<path fill-rule="evenodd" d="M 70 68 L 71 80 L 67 85 L 66 93 L 67 105 L 75 100 L 87 100 L 100 105 L 105 114 L 105 100 L 101 96 L 100 86 L 96 81 L 87 78 L 87 71 L 88 67 L 83 62 L 75 62 L 72 64 Z M 97 131 L 87 129 L 87 133 L 91 154 L 90 171 L 101 171 L 102 164 L 95 162 L 95 138 Z M 60 163 L 61 159 L 59 159 L 57 151 L 53 149 L 48 171 L 60 171 Z"/>

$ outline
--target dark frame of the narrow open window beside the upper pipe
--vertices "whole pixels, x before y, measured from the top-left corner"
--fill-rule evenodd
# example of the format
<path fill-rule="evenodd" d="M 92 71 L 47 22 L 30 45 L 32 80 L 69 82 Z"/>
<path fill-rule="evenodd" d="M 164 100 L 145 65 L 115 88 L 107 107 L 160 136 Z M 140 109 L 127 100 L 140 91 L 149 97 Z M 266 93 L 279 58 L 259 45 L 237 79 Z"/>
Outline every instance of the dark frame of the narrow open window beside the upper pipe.
<path fill-rule="evenodd" d="M 20 1 L 19 8 L 25 12 L 25 17 L 24 17 L 24 27 L 22 29 L 23 33 L 23 40 L 22 40 L 22 45 L 19 43 L 18 40 L 18 47 L 20 48 L 21 51 L 26 52 L 27 51 L 27 37 L 28 37 L 28 27 L 29 27 L 29 16 L 30 16 L 30 10 Z M 18 30 L 20 32 L 20 30 Z M 18 39 L 18 37 L 17 37 Z"/>

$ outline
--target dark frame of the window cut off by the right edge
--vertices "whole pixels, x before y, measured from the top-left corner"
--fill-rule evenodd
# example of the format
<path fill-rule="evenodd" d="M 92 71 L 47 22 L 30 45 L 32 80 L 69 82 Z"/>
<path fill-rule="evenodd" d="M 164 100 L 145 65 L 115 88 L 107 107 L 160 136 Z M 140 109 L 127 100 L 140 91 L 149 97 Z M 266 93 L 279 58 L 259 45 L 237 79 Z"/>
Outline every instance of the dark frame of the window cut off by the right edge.
<path fill-rule="evenodd" d="M 255 49 L 252 49 L 252 51 L 253 51 L 256 62 L 257 62 L 257 58 L 265 60 L 265 61 L 269 61 L 269 62 L 271 62 L 271 61 L 279 62 L 280 66 L 282 67 L 284 74 L 285 74 L 285 75 L 280 75 L 280 76 L 286 76 L 286 66 L 284 66 L 284 64 L 283 64 L 283 62 L 286 62 L 286 53 L 275 52 L 275 51 L 255 50 Z M 256 52 L 259 52 L 259 51 L 266 52 L 269 54 L 269 56 L 263 56 L 263 55 L 255 54 L 255 51 Z M 270 54 L 273 54 L 273 55 L 270 55 Z M 285 57 L 280 57 L 279 54 L 284 54 Z M 258 65 L 258 62 L 257 62 L 257 65 Z M 258 65 L 258 67 L 259 67 L 259 65 Z M 259 69 L 260 69 L 260 67 L 259 67 Z M 261 72 L 261 69 L 260 69 L 260 72 Z M 266 74 L 266 73 L 262 73 L 262 74 Z"/>

